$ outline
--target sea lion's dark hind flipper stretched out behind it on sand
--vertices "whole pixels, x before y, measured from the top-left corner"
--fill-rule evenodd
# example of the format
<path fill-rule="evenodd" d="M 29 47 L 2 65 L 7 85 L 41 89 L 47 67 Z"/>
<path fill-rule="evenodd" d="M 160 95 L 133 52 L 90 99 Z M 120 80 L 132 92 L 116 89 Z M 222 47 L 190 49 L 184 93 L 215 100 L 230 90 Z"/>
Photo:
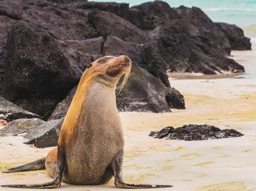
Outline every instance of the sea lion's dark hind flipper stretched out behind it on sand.
<path fill-rule="evenodd" d="M 3 171 L 2 173 L 17 173 L 17 172 L 24 172 L 24 171 L 42 170 L 42 169 L 45 169 L 44 161 L 45 161 L 45 158 L 41 158 L 39 160 L 35 160 L 33 162 L 21 165 L 19 167 L 7 169 L 7 170 Z"/>

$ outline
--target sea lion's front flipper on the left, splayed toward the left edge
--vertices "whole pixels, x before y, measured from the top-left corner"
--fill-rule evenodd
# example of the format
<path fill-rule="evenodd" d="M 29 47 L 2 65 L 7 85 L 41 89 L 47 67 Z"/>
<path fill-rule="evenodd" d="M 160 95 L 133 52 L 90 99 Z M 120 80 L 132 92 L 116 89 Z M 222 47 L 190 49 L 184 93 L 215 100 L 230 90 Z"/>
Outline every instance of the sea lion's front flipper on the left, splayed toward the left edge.
<path fill-rule="evenodd" d="M 58 146 L 57 152 L 57 168 L 55 173 L 55 178 L 53 181 L 48 181 L 43 184 L 10 184 L 10 185 L 1 185 L 1 187 L 8 188 L 55 188 L 61 186 L 61 180 L 63 173 L 66 169 L 66 157 L 65 152 Z"/>

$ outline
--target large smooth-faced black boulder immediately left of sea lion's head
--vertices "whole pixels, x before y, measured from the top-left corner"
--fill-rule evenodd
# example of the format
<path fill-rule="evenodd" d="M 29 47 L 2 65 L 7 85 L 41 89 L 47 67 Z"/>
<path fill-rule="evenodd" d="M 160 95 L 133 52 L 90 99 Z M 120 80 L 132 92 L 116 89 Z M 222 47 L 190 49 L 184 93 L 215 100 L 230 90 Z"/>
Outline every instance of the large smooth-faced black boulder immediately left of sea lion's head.
<path fill-rule="evenodd" d="M 12 27 L 7 44 L 3 96 L 47 118 L 79 82 L 82 71 L 74 54 L 48 33 L 22 22 Z"/>

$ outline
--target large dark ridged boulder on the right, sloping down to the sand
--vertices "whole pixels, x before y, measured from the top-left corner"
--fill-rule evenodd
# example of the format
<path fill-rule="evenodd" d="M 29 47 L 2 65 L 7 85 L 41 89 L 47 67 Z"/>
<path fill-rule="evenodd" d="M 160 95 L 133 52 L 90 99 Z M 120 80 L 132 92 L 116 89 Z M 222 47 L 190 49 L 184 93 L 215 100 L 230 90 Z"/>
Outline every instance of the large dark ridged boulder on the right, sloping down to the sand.
<path fill-rule="evenodd" d="M 181 6 L 167 10 L 173 19 L 160 23 L 150 34 L 158 41 L 169 71 L 205 74 L 244 72 L 244 67 L 226 57 L 231 51 L 228 39 L 199 8 Z"/>

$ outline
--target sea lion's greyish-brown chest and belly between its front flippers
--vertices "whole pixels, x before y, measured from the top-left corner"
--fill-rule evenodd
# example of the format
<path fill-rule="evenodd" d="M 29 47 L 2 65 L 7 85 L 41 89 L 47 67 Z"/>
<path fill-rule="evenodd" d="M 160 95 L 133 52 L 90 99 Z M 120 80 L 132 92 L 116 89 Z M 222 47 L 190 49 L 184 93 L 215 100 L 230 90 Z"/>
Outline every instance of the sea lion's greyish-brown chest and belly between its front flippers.
<path fill-rule="evenodd" d="M 102 184 L 111 178 L 109 165 L 124 147 L 121 120 L 115 103 L 115 87 L 93 82 L 66 145 L 64 180 L 72 184 Z"/>

